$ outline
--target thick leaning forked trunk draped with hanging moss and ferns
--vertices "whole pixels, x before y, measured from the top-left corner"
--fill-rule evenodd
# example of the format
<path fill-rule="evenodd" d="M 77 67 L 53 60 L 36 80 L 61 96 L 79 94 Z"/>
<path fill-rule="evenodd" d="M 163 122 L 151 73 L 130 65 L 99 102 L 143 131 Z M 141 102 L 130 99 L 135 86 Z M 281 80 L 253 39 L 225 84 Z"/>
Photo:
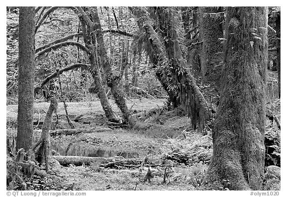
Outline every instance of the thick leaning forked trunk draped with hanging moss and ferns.
<path fill-rule="evenodd" d="M 186 108 L 191 120 L 191 127 L 194 130 L 203 130 L 209 121 L 206 101 L 193 76 L 186 69 L 184 47 L 178 38 L 172 9 L 157 7 L 155 12 L 158 13 L 159 31 L 162 37 L 165 37 L 164 48 L 167 58 L 163 52 L 158 34 L 149 22 L 146 11 L 142 8 L 131 7 L 130 9 L 138 17 L 140 27 L 142 26 L 145 30 L 147 47 L 151 48 L 146 51 L 149 52 L 149 57 L 156 67 L 156 77 L 171 100 L 182 104 Z"/>

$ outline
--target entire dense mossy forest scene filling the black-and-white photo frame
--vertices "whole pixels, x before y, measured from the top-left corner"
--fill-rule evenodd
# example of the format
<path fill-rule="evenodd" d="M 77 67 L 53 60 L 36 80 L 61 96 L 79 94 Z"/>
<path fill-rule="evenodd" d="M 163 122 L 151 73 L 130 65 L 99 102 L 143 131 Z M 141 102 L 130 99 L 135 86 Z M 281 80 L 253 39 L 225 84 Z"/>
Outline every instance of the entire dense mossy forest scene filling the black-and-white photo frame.
<path fill-rule="evenodd" d="M 7 190 L 280 190 L 280 7 L 6 7 Z"/>

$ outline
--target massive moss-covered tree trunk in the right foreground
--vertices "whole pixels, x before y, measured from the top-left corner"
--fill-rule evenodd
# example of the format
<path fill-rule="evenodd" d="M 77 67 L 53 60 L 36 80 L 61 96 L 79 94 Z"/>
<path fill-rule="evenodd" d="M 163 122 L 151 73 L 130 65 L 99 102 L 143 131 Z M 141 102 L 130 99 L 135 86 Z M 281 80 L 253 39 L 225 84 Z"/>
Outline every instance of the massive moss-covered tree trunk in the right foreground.
<path fill-rule="evenodd" d="M 268 61 L 266 7 L 228 7 L 222 92 L 216 114 L 208 183 L 261 190 Z M 222 183 L 222 182 L 221 182 Z"/>

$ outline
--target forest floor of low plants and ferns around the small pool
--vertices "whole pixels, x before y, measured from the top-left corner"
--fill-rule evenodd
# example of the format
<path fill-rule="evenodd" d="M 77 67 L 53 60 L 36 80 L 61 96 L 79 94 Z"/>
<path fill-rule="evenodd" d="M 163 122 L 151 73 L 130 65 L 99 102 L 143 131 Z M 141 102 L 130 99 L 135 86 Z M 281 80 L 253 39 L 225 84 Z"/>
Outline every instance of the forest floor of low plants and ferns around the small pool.
<path fill-rule="evenodd" d="M 111 100 L 112 101 L 112 100 Z M 212 155 L 210 135 L 182 131 L 188 128 L 189 118 L 181 110 L 166 111 L 164 99 L 129 99 L 128 107 L 140 120 L 133 128 L 112 127 L 104 132 L 78 133 L 51 136 L 51 147 L 62 156 L 114 157 L 141 159 L 147 155 L 153 179 L 143 181 L 148 164 L 131 169 L 129 167 L 104 168 L 98 164 L 61 166 L 51 160 L 51 171 L 41 178 L 34 176 L 26 180 L 27 190 L 198 190 Z M 114 101 L 113 109 L 119 110 Z M 44 120 L 49 102 L 34 104 L 34 122 Z M 67 103 L 71 120 L 76 129 L 109 128 L 100 102 Z M 57 129 L 67 129 L 63 103 L 58 105 Z M 16 136 L 17 105 L 7 105 L 7 138 Z M 54 116 L 55 122 L 55 116 Z M 35 125 L 34 142 L 41 134 Z M 54 128 L 53 128 L 54 129 Z M 96 129 L 95 129 L 96 131 Z M 180 158 L 180 155 L 183 158 Z M 178 162 L 167 157 L 178 157 Z M 183 159 L 181 161 L 181 159 Z M 175 160 L 174 160 L 175 161 Z M 163 184 L 166 165 L 170 166 L 167 183 Z M 42 167 L 41 167 L 42 168 Z"/>

